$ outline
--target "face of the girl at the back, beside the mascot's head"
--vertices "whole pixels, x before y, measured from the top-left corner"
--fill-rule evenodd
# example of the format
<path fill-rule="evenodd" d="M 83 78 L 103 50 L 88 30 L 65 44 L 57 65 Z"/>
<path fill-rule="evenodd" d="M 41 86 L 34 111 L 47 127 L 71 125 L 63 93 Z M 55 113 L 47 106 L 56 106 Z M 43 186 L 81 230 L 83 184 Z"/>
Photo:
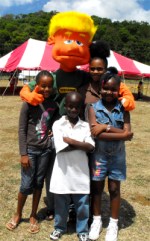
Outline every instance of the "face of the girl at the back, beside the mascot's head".
<path fill-rule="evenodd" d="M 93 81 L 99 81 L 102 74 L 105 73 L 105 63 L 102 59 L 93 59 L 90 63 L 90 75 Z"/>

